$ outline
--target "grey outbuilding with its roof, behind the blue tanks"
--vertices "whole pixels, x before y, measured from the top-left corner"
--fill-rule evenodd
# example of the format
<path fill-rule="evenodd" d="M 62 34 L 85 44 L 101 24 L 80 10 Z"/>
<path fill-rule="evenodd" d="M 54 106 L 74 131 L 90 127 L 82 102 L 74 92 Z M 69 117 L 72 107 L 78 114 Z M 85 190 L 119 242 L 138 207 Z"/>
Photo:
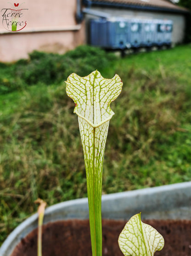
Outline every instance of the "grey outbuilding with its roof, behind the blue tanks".
<path fill-rule="evenodd" d="M 83 0 L 86 24 L 96 16 L 118 17 L 124 19 L 160 19 L 173 23 L 172 43 L 179 44 L 184 40 L 186 8 L 170 0 Z M 88 37 L 88 32 L 86 33 Z"/>

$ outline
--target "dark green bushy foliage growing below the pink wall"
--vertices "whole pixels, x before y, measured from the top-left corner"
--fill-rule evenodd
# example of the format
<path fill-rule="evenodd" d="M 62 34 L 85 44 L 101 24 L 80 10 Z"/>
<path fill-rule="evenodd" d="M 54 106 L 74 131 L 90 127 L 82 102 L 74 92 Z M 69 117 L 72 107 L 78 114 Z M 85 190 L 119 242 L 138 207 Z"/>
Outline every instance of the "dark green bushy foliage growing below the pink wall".
<path fill-rule="evenodd" d="M 85 76 L 92 70 L 109 66 L 114 59 L 114 54 L 87 45 L 63 55 L 34 51 L 29 54 L 28 60 L 7 65 L 0 63 L 0 94 L 25 89 L 37 83 L 59 84 L 72 72 Z"/>

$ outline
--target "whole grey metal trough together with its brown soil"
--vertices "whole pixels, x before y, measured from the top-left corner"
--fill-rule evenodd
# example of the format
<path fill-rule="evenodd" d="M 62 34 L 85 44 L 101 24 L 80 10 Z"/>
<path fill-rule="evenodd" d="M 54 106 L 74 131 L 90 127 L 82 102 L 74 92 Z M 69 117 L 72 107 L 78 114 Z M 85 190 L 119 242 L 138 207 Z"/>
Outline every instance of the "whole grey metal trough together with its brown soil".
<path fill-rule="evenodd" d="M 140 212 L 141 219 L 164 237 L 164 248 L 156 256 L 191 255 L 191 182 L 103 195 L 103 255 L 123 255 L 118 235 L 129 218 Z M 43 256 L 91 255 L 88 217 L 87 198 L 46 208 Z M 11 232 L 0 256 L 36 256 L 37 226 L 34 214 Z"/>

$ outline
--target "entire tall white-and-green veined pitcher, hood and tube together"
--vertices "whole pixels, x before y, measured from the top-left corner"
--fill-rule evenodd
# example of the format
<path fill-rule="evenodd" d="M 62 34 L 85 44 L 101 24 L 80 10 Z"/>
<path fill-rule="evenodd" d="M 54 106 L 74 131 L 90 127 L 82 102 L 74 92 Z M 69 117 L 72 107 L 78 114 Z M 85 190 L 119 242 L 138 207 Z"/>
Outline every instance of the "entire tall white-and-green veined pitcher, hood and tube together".
<path fill-rule="evenodd" d="M 103 158 L 109 120 L 113 116 L 110 103 L 121 92 L 118 75 L 105 79 L 94 71 L 86 77 L 71 74 L 67 78 L 67 95 L 75 102 L 84 150 L 90 216 L 92 255 L 102 255 L 101 187 Z"/>

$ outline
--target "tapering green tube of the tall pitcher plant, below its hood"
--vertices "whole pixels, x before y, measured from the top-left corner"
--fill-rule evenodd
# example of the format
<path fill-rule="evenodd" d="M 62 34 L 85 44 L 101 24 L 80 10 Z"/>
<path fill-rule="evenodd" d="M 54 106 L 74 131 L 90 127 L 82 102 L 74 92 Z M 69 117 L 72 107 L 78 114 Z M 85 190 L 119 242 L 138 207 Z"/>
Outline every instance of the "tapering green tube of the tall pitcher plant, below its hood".
<path fill-rule="evenodd" d="M 93 256 L 102 255 L 101 188 L 103 157 L 108 127 L 109 121 L 98 127 L 92 127 L 84 119 L 79 118 L 79 128 L 84 149 L 87 177 L 90 234 Z"/>

